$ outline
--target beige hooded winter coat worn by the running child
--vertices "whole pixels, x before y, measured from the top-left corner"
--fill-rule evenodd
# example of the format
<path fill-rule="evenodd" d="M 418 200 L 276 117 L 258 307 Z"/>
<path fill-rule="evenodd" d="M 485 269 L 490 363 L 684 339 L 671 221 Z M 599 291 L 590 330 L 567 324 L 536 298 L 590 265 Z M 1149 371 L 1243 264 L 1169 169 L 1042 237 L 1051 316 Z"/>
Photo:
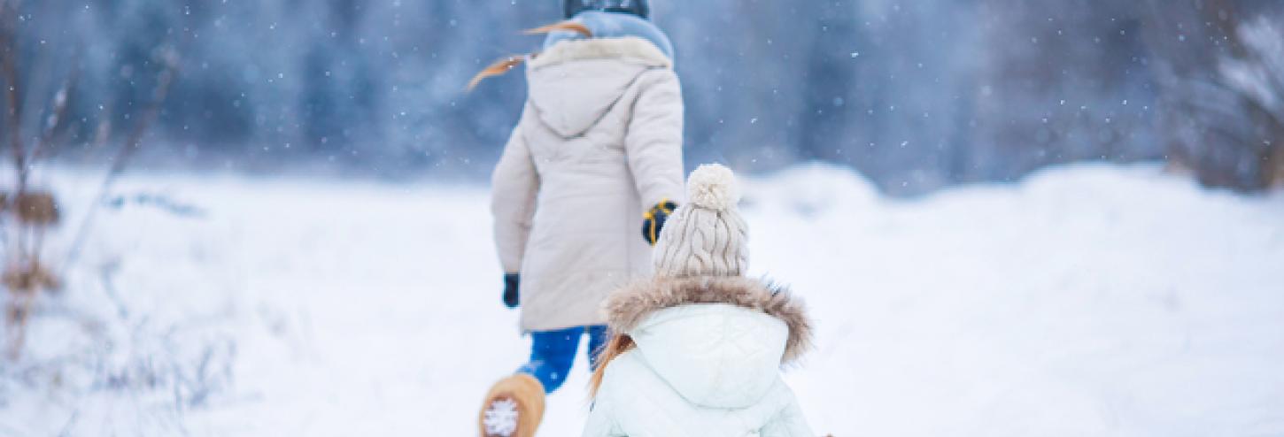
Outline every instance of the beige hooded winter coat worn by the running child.
<path fill-rule="evenodd" d="M 521 328 L 601 324 L 606 295 L 650 273 L 642 213 L 681 202 L 682 91 L 636 37 L 562 41 L 535 56 L 521 120 L 492 178 L 494 240 L 521 273 Z"/>

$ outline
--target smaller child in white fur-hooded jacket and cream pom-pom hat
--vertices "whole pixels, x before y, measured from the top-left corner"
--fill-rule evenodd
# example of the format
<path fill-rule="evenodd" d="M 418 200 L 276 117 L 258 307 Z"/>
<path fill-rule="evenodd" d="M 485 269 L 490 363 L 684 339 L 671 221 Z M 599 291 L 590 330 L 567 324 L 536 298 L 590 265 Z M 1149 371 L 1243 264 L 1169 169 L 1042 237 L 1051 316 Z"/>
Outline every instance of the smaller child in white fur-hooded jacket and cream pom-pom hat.
<path fill-rule="evenodd" d="M 687 191 L 656 242 L 656 277 L 607 299 L 614 337 L 584 436 L 814 436 L 779 377 L 810 343 L 801 302 L 743 277 L 731 170 L 702 165 Z"/>

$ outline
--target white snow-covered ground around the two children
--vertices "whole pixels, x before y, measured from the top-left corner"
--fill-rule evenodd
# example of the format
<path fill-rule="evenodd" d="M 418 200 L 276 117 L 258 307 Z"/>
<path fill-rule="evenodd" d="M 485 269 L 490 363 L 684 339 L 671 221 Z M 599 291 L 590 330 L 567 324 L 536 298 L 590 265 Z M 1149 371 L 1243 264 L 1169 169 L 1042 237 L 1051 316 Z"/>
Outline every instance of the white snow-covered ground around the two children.
<path fill-rule="evenodd" d="M 76 223 L 95 183 L 62 173 Z M 23 358 L 0 361 L 0 436 L 469 436 L 525 358 L 484 187 L 116 191 Z M 909 201 L 804 165 L 746 191 L 756 274 L 818 324 L 787 374 L 817 432 L 1284 434 L 1284 196 L 1153 165 Z M 578 434 L 577 365 L 541 436 Z"/>

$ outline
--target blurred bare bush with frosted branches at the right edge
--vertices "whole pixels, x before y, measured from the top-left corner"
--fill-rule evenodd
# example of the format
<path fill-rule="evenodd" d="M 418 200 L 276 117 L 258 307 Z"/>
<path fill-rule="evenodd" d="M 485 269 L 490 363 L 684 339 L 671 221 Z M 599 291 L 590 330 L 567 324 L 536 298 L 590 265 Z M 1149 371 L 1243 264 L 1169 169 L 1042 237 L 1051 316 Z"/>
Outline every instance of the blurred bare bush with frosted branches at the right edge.
<path fill-rule="evenodd" d="M 1284 14 L 1279 1 L 1147 3 L 1170 161 L 1204 185 L 1284 181 Z"/>

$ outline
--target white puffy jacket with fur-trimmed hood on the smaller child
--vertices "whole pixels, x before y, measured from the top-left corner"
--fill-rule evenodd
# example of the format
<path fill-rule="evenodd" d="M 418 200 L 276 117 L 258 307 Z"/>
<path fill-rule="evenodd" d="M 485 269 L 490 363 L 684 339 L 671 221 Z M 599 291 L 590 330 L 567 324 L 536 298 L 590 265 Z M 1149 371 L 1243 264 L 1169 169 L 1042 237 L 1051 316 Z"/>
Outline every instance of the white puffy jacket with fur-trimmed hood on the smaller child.
<path fill-rule="evenodd" d="M 586 437 L 814 436 L 779 367 L 809 343 L 802 306 L 746 278 L 661 278 L 611 296 L 637 345 L 606 363 Z"/>

